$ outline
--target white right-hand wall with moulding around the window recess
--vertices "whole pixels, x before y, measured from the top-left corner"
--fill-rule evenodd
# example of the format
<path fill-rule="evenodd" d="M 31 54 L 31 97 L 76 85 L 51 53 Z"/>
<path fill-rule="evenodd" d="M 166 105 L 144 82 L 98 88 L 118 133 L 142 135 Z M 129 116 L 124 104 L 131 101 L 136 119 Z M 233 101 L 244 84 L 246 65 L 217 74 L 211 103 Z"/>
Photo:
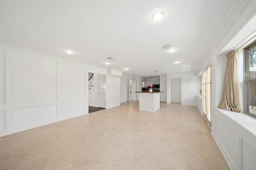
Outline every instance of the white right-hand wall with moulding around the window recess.
<path fill-rule="evenodd" d="M 228 53 L 239 49 L 239 76 L 243 102 L 243 47 L 256 40 L 256 1 L 234 3 L 226 25 L 202 60 L 200 73 L 212 61 L 212 136 L 231 170 L 256 168 L 256 119 L 243 113 L 218 109 L 223 99 Z"/>

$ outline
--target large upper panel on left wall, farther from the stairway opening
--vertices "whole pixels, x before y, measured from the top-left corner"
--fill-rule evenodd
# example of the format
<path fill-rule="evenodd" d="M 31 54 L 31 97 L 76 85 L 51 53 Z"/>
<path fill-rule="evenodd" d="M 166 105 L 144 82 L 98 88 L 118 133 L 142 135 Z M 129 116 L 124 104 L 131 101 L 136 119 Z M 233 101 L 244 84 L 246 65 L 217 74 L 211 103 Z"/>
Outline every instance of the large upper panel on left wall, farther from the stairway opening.
<path fill-rule="evenodd" d="M 14 53 L 13 103 L 56 101 L 57 61 L 31 54 Z"/>

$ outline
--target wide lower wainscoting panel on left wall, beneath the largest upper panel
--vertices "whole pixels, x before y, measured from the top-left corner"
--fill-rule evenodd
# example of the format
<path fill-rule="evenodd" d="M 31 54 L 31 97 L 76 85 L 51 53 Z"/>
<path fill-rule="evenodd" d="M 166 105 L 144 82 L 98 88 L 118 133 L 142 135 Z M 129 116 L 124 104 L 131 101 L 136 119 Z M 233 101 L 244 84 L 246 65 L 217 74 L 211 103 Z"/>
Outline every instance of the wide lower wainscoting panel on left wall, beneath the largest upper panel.
<path fill-rule="evenodd" d="M 14 129 L 22 131 L 56 122 L 56 114 L 56 104 L 14 109 Z"/>

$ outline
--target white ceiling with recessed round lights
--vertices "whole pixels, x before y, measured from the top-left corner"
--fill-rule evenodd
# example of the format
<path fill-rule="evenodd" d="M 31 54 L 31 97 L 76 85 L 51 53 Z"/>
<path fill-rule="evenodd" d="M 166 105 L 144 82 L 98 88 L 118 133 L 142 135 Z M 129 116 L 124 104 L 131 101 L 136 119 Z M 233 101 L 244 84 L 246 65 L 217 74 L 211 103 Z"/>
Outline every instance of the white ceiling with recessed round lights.
<path fill-rule="evenodd" d="M 147 77 L 196 71 L 234 0 L 0 3 L 1 43 Z M 152 20 L 158 10 L 164 18 Z M 167 44 L 176 51 L 163 49 Z"/>

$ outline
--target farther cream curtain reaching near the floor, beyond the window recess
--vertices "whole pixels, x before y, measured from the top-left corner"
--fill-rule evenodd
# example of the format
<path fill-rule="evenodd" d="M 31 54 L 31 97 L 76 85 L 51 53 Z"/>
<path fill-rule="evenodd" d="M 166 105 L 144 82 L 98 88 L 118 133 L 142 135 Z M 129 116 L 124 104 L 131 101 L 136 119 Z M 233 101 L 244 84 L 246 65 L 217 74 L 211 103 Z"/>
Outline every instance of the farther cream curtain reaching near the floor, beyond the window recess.
<path fill-rule="evenodd" d="M 212 65 L 202 75 L 202 110 L 209 126 L 212 125 L 211 98 L 212 98 Z"/>

